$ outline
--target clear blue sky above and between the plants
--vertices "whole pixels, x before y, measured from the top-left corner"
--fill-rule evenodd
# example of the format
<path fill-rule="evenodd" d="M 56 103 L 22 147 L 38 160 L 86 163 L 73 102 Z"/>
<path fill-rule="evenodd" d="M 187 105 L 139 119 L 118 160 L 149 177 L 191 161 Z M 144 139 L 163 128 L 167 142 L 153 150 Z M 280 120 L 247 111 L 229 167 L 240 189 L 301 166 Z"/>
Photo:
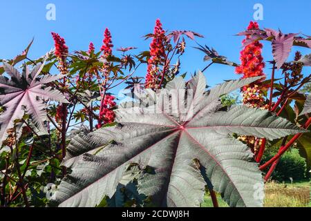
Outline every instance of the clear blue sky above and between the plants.
<path fill-rule="evenodd" d="M 56 6 L 56 21 L 46 19 L 48 3 Z M 51 31 L 66 39 L 70 51 L 86 50 L 89 41 L 93 41 L 98 50 L 106 27 L 112 32 L 115 48 L 135 46 L 138 47 L 137 52 L 148 50 L 150 41 L 144 41 L 142 35 L 152 32 L 155 20 L 159 18 L 167 30 L 199 32 L 205 36 L 205 39 L 198 39 L 200 44 L 212 46 L 221 55 L 238 62 L 243 37 L 234 34 L 245 29 L 253 19 L 255 3 L 263 5 L 263 21 L 259 21 L 261 27 L 311 35 L 310 0 L 2 0 L 0 58 L 15 57 L 32 37 L 35 37 L 35 42 L 30 57 L 35 59 L 44 55 L 53 48 Z M 189 42 L 188 46 L 196 44 Z M 303 50 L 305 54 L 310 52 L 310 49 Z M 265 60 L 272 59 L 270 44 L 265 43 L 263 55 Z M 201 52 L 188 47 L 182 57 L 182 71 L 193 73 L 203 68 L 202 57 Z M 138 75 L 144 76 L 145 69 L 140 69 Z M 206 75 L 209 85 L 223 79 L 238 78 L 234 68 L 217 64 Z M 270 75 L 269 70 L 267 75 Z"/>

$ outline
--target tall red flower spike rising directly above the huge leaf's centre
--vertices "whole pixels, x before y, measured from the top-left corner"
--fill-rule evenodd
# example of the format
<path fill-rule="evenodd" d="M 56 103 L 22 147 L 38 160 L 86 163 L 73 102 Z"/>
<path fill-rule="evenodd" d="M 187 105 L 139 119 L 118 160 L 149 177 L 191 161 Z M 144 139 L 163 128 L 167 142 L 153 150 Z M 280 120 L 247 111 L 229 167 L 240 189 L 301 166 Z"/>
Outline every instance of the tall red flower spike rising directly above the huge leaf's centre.
<path fill-rule="evenodd" d="M 160 68 L 162 60 L 165 57 L 164 42 L 166 41 L 165 31 L 159 19 L 156 20 L 156 26 L 153 32 L 153 39 L 150 44 L 150 59 L 148 60 L 148 69 L 146 75 L 146 88 L 158 88 L 160 84 Z"/>

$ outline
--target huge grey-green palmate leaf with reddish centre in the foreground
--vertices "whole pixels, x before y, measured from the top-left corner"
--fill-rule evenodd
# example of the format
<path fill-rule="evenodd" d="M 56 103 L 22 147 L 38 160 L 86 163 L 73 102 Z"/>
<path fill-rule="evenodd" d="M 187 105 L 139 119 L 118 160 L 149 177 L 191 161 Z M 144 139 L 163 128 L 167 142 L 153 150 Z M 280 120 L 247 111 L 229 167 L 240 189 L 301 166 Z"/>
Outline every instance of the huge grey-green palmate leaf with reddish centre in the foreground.
<path fill-rule="evenodd" d="M 305 131 L 268 111 L 221 108 L 221 95 L 257 79 L 227 81 L 206 92 L 199 73 L 187 86 L 181 78 L 169 82 L 154 105 L 119 108 L 116 126 L 73 138 L 63 162 L 72 173 L 52 202 L 97 206 L 106 195 L 114 197 L 126 166 L 138 164 L 138 193 L 157 206 L 199 206 L 207 179 L 230 206 L 262 206 L 263 198 L 254 195 L 264 194 L 261 171 L 249 148 L 229 134 L 276 139 Z"/>

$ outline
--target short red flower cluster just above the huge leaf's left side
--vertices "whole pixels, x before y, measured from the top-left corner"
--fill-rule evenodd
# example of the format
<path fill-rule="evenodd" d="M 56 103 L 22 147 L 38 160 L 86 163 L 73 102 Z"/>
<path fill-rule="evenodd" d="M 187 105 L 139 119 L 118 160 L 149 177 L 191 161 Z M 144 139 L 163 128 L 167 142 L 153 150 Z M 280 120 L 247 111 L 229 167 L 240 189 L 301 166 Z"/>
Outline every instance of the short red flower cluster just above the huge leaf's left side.
<path fill-rule="evenodd" d="M 115 113 L 112 108 L 115 106 L 115 97 L 112 95 L 105 95 L 104 102 L 100 108 L 100 121 L 96 128 L 101 128 L 104 124 L 111 124 L 115 121 Z"/>

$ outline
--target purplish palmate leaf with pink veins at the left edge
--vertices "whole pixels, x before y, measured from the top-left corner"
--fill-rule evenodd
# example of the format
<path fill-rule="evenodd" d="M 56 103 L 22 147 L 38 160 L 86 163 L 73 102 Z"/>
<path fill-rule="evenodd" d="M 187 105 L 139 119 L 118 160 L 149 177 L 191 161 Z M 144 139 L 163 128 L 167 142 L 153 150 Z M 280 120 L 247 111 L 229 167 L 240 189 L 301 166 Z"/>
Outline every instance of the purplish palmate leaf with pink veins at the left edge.
<path fill-rule="evenodd" d="M 0 76 L 0 105 L 5 107 L 5 111 L 0 115 L 0 145 L 8 137 L 8 129 L 14 127 L 15 119 L 21 119 L 24 113 L 28 113 L 32 122 L 40 131 L 46 131 L 44 121 L 46 104 L 44 100 L 53 100 L 56 102 L 67 102 L 64 95 L 58 90 L 46 87 L 47 84 L 55 79 L 64 77 L 63 75 L 46 75 L 39 78 L 44 64 L 39 64 L 31 70 L 24 66 L 23 73 L 19 73 L 10 64 L 3 62 L 3 68 L 10 76 Z"/>

